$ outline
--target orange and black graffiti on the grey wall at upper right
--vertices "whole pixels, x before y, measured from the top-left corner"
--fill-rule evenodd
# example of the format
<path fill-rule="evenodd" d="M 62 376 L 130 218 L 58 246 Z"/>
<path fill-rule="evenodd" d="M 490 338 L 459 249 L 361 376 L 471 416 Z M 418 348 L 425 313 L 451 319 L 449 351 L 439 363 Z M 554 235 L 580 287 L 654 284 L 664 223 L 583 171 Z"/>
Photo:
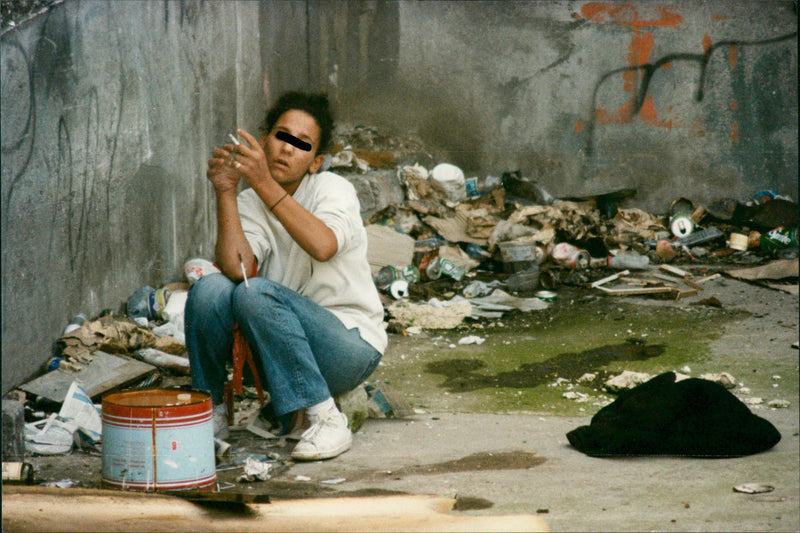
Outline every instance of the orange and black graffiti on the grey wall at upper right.
<path fill-rule="evenodd" d="M 670 6 L 653 6 L 653 12 L 642 15 L 630 4 L 610 2 L 589 2 L 581 7 L 580 17 L 596 23 L 614 23 L 631 28 L 632 36 L 628 47 L 628 65 L 612 69 L 600 76 L 594 86 L 591 98 L 591 111 L 584 124 L 578 121 L 577 131 L 586 132 L 585 154 L 592 156 L 595 152 L 595 128 L 598 124 L 626 124 L 638 117 L 643 123 L 672 129 L 672 118 L 662 118 L 651 92 L 653 76 L 661 69 L 672 68 L 673 63 L 690 62 L 697 64 L 697 80 L 693 98 L 700 102 L 706 92 L 708 65 L 717 50 L 728 51 L 730 69 L 736 67 L 740 47 L 764 46 L 797 39 L 797 32 L 760 40 L 722 40 L 713 43 L 711 37 L 703 38 L 701 53 L 671 53 L 657 59 L 651 55 L 655 49 L 652 31 L 647 29 L 675 28 L 683 23 L 683 17 Z M 648 16 L 649 15 L 649 16 Z M 622 77 L 623 90 L 627 93 L 626 101 L 617 109 L 609 111 L 598 105 L 598 93 L 609 80 Z M 737 109 L 737 103 L 731 102 L 731 109 Z M 668 108 L 667 112 L 671 109 Z M 731 122 L 730 139 L 738 141 L 738 123 Z"/>

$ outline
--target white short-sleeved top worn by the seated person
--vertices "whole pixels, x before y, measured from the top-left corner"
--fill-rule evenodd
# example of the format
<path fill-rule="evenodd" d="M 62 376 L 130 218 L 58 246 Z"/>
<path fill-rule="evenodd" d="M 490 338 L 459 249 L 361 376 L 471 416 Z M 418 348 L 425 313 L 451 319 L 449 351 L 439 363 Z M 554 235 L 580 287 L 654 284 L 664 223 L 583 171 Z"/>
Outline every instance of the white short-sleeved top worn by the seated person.
<path fill-rule="evenodd" d="M 328 226 L 338 249 L 328 261 L 313 259 L 253 191 L 238 195 L 245 237 L 258 275 L 280 283 L 332 312 L 380 353 L 386 349 L 383 305 L 367 263 L 367 232 L 353 185 L 332 172 L 307 174 L 292 197 Z"/>

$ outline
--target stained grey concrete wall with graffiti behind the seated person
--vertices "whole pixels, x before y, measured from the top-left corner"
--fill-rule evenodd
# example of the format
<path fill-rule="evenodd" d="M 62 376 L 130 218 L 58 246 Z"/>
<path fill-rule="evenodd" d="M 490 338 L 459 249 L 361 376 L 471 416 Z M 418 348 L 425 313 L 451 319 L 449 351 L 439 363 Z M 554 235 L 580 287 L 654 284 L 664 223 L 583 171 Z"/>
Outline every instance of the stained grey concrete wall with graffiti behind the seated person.
<path fill-rule="evenodd" d="M 557 195 L 797 198 L 794 3 L 65 0 L 2 51 L 5 393 L 213 252 L 211 147 L 287 89 Z"/>

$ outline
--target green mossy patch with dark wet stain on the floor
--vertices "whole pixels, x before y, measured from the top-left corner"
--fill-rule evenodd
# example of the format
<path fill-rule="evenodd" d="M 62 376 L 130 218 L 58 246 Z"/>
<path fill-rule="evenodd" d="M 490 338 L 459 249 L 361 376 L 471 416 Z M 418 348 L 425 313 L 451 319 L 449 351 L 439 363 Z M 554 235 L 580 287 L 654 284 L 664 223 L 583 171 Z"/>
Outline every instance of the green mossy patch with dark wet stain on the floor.
<path fill-rule="evenodd" d="M 614 396 L 602 388 L 623 370 L 652 375 L 706 368 L 709 343 L 744 312 L 703 306 L 649 306 L 599 299 L 497 321 L 393 337 L 371 380 L 384 381 L 414 407 L 432 411 L 591 415 Z M 485 339 L 459 345 L 467 335 Z M 579 383 L 586 373 L 593 381 Z M 583 396 L 566 399 L 565 392 Z"/>

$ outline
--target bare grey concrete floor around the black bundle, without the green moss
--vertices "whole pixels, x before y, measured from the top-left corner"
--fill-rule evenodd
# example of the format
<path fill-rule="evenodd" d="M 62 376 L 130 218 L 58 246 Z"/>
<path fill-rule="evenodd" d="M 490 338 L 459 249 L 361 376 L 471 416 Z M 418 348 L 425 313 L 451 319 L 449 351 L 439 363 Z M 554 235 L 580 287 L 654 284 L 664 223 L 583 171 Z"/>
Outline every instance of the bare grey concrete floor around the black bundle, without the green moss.
<path fill-rule="evenodd" d="M 575 417 L 535 409 L 487 413 L 462 409 L 457 401 L 432 402 L 449 407 L 411 419 L 367 420 L 354 435 L 353 448 L 340 457 L 290 462 L 267 482 L 227 490 L 273 498 L 434 494 L 456 498 L 455 513 L 535 514 L 554 531 L 798 531 L 800 398 L 798 350 L 792 346 L 798 340 L 797 296 L 730 278 L 713 283 L 706 296 L 713 292 L 724 308 L 748 313 L 711 341 L 703 359 L 693 364 L 693 374 L 730 371 L 750 389 L 749 396 L 765 399 L 752 409 L 772 422 L 782 439 L 764 453 L 735 459 L 598 459 L 576 451 L 566 439 L 568 431 L 589 422 L 597 410 L 590 404 L 585 416 Z M 691 303 L 626 301 L 642 312 L 649 306 Z M 384 362 L 391 367 L 410 346 L 424 350 L 426 343 L 430 339 L 425 337 L 393 336 Z M 402 392 L 413 395 L 413 382 L 404 384 Z M 790 406 L 766 405 L 778 397 Z M 35 458 L 34 464 L 40 479 L 72 478 L 84 487 L 97 486 L 99 480 L 97 456 L 76 452 Z M 735 492 L 733 487 L 742 483 L 774 490 Z"/>

